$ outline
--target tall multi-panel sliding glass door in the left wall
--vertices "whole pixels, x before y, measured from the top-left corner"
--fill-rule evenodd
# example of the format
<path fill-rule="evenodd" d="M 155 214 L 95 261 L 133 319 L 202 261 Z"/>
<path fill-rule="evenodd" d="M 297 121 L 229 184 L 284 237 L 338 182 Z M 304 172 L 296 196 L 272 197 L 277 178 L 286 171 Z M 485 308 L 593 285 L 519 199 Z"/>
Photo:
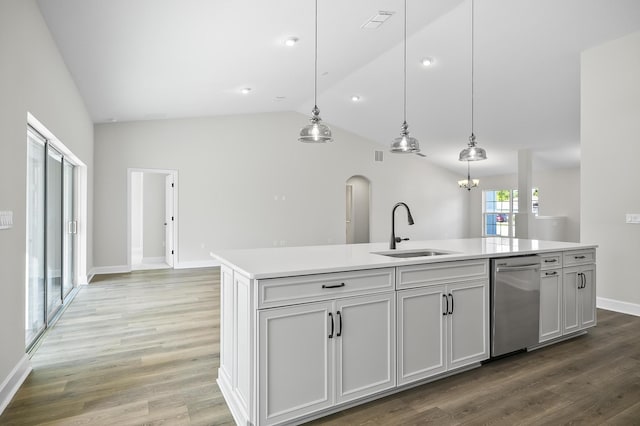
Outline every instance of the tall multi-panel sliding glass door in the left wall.
<path fill-rule="evenodd" d="M 27 132 L 26 342 L 33 345 L 75 287 L 75 166 Z"/>

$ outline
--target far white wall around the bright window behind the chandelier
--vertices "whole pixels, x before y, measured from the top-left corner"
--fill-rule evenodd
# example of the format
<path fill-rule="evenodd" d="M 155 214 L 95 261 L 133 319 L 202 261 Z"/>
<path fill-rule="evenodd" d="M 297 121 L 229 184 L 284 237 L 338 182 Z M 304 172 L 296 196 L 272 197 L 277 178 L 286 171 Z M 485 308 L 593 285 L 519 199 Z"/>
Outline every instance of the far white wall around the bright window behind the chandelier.
<path fill-rule="evenodd" d="M 533 187 L 538 188 L 540 216 L 566 216 L 565 240 L 580 241 L 580 169 L 533 170 Z M 517 189 L 518 176 L 486 176 L 470 194 L 469 236 L 482 235 L 482 191 Z"/>

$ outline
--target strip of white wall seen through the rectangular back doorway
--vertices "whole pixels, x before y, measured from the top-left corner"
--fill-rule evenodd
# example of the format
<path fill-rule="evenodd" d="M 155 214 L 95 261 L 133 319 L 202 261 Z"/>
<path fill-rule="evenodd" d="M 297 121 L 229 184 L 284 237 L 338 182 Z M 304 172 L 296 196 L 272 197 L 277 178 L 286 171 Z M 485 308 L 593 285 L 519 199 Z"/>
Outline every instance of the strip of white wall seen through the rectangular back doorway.
<path fill-rule="evenodd" d="M 164 258 L 165 174 L 144 173 L 143 258 Z"/>

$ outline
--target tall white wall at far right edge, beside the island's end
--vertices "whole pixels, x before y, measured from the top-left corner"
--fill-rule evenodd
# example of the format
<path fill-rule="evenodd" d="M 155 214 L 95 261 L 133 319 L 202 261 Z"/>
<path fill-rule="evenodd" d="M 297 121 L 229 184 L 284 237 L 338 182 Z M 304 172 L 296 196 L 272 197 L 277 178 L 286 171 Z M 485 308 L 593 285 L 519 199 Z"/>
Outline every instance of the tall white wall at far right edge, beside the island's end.
<path fill-rule="evenodd" d="M 581 75 L 581 237 L 600 245 L 598 297 L 640 315 L 640 32 L 583 52 Z"/>

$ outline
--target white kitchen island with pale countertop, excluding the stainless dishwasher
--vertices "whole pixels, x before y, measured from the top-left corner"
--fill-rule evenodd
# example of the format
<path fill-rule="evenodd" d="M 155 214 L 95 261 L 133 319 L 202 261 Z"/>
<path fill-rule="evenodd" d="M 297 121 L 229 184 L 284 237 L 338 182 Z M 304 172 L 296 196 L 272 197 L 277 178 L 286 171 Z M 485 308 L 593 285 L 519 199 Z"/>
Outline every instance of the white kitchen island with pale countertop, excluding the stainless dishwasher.
<path fill-rule="evenodd" d="M 572 337 L 595 325 L 595 247 L 474 238 L 217 252 L 218 385 L 238 424 L 287 424 L 478 367 L 499 257 L 540 256 L 539 343 Z"/>

